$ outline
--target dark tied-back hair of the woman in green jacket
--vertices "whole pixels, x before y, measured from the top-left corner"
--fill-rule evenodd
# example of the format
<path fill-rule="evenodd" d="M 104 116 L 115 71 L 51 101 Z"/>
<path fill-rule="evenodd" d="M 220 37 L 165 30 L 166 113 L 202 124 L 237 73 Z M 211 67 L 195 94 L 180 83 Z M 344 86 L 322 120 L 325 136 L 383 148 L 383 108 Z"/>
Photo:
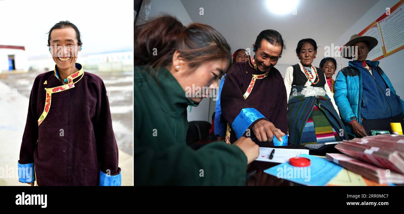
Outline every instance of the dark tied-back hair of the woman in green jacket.
<path fill-rule="evenodd" d="M 156 51 L 157 55 L 153 55 Z M 151 66 L 154 70 L 169 66 L 175 51 L 189 68 L 210 60 L 231 60 L 230 45 L 209 25 L 191 23 L 185 27 L 175 17 L 166 15 L 135 26 L 135 66 Z"/>

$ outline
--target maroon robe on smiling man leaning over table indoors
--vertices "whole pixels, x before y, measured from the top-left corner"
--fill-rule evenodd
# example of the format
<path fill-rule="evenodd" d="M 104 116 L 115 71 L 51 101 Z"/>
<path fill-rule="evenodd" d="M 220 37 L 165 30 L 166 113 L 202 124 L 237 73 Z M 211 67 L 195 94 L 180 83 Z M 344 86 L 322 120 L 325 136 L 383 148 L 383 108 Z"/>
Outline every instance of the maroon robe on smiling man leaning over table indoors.
<path fill-rule="evenodd" d="M 255 143 L 269 147 L 273 146 L 273 142 L 259 142 L 252 127 L 260 120 L 267 120 L 287 133 L 286 88 L 282 75 L 276 68 L 272 67 L 265 73 L 257 71 L 254 64 L 252 58 L 250 61 L 234 64 L 227 72 L 220 95 L 221 121 L 225 120 L 229 125 L 228 130 L 231 131 L 226 138 L 229 138 L 230 143 L 246 136 L 246 130 L 249 129 Z"/>

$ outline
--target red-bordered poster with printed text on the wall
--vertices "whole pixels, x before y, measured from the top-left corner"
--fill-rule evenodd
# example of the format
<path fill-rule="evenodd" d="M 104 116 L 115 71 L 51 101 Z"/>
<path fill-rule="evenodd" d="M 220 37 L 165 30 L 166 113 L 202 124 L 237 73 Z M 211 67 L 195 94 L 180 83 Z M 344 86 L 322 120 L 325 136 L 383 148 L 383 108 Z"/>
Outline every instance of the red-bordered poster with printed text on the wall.
<path fill-rule="evenodd" d="M 404 0 L 373 21 L 368 27 L 358 33 L 359 36 L 372 36 L 378 44 L 369 52 L 368 58 L 372 61 L 387 57 L 404 49 Z M 388 13 L 389 12 L 389 13 Z M 349 59 L 340 57 L 341 66 L 348 66 Z"/>

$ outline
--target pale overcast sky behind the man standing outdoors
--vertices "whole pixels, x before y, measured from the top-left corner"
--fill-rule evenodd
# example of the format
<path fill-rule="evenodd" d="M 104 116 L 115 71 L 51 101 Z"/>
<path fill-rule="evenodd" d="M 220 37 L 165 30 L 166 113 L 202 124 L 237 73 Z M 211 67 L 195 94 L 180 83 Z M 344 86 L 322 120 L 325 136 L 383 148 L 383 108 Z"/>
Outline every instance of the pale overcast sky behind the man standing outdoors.
<path fill-rule="evenodd" d="M 133 49 L 133 0 L 0 0 L 0 44 L 50 54 L 46 33 L 65 20 L 80 30 L 83 55 Z"/>

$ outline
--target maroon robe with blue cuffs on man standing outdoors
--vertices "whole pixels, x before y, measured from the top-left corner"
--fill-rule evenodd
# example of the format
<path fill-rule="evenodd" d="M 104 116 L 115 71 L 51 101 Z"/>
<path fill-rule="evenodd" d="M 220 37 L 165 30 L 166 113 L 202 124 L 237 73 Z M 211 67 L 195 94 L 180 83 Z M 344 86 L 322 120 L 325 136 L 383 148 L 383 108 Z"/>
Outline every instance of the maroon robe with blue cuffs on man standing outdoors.
<path fill-rule="evenodd" d="M 101 78 L 82 70 L 63 85 L 57 68 L 34 81 L 18 165 L 38 186 L 120 185 L 118 146 Z M 21 178 L 23 177 L 23 178 Z"/>

